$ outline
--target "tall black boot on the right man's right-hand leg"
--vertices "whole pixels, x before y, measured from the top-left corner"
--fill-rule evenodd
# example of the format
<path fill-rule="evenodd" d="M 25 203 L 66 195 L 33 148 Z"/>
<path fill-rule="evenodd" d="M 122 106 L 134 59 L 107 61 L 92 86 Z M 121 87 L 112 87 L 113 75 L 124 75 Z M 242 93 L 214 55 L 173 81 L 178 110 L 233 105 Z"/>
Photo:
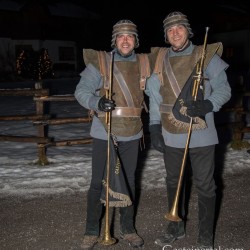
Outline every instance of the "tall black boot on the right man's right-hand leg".
<path fill-rule="evenodd" d="M 200 249 L 213 249 L 215 200 L 216 196 L 198 196 L 199 233 L 197 246 Z"/>

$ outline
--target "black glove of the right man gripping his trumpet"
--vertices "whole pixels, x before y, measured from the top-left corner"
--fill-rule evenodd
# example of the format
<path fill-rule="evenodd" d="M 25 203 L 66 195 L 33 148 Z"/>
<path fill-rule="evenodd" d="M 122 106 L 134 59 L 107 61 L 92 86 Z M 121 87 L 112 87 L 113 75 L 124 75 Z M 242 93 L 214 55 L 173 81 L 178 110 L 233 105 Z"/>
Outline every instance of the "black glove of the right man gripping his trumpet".
<path fill-rule="evenodd" d="M 189 101 L 186 103 L 187 115 L 190 117 L 205 117 L 205 115 L 213 111 L 213 104 L 209 100 Z"/>

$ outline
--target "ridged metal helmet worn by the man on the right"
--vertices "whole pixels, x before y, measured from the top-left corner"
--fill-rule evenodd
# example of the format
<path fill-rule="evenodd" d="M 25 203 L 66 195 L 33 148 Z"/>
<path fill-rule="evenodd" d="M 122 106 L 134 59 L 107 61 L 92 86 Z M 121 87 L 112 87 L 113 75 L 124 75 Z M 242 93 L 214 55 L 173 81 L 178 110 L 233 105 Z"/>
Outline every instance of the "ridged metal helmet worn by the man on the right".
<path fill-rule="evenodd" d="M 190 28 L 190 24 L 189 24 L 189 21 L 187 19 L 187 16 L 182 14 L 179 11 L 174 11 L 174 12 L 171 12 L 170 14 L 168 14 L 167 17 L 163 21 L 164 37 L 165 37 L 166 42 L 168 41 L 166 31 L 171 26 L 176 25 L 176 24 L 182 24 L 187 28 L 188 33 L 189 33 L 188 38 L 191 38 L 194 36 L 194 33 L 192 32 L 192 29 Z"/>

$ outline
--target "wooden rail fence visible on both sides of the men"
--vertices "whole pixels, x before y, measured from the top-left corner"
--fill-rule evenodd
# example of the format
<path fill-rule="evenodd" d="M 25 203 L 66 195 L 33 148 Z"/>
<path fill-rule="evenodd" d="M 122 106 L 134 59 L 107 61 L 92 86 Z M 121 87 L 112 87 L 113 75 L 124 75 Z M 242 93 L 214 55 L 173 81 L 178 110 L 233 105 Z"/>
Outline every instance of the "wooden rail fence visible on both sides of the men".
<path fill-rule="evenodd" d="M 37 127 L 37 136 L 16 136 L 16 135 L 1 135 L 0 141 L 14 141 L 14 142 L 29 142 L 36 143 L 38 147 L 38 164 L 49 164 L 46 156 L 46 150 L 49 146 L 71 146 L 79 144 L 92 143 L 91 138 L 78 138 L 55 141 L 53 138 L 48 137 L 47 126 L 61 125 L 67 123 L 89 123 L 91 118 L 86 117 L 66 117 L 66 118 L 52 118 L 50 114 L 45 111 L 45 102 L 60 102 L 76 101 L 73 95 L 50 95 L 49 89 L 43 88 L 43 82 L 38 81 L 35 83 L 34 88 L 28 89 L 1 89 L 0 96 L 32 96 L 36 105 L 36 113 L 33 115 L 14 115 L 14 116 L 0 116 L 0 121 L 22 121 L 30 120 L 33 125 Z M 225 108 L 223 112 L 233 112 L 235 121 L 226 123 L 226 126 L 233 128 L 233 140 L 241 141 L 244 133 L 250 132 L 250 127 L 247 127 L 244 119 L 249 110 L 243 107 L 243 98 L 250 97 L 250 92 L 243 92 L 240 94 L 240 101 L 232 108 Z"/>

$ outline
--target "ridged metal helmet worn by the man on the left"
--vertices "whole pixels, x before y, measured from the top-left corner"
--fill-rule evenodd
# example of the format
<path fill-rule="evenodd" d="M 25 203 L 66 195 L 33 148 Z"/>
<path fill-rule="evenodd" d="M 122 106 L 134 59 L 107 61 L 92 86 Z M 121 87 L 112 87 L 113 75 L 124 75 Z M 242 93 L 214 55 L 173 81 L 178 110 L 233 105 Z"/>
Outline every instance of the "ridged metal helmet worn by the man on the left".
<path fill-rule="evenodd" d="M 139 47 L 137 26 L 130 20 L 120 20 L 113 26 L 111 48 L 115 48 L 116 36 L 123 33 L 135 35 L 135 48 Z"/>

